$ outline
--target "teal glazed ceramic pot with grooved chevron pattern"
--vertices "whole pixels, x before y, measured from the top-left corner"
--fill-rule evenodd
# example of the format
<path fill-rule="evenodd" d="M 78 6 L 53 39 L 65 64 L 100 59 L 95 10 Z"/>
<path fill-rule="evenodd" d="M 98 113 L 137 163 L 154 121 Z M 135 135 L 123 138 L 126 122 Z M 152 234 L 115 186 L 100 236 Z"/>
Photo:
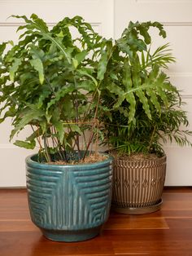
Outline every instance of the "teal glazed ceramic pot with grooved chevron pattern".
<path fill-rule="evenodd" d="M 26 158 L 28 205 L 33 223 L 53 241 L 97 236 L 111 207 L 113 158 L 93 164 L 47 165 Z"/>

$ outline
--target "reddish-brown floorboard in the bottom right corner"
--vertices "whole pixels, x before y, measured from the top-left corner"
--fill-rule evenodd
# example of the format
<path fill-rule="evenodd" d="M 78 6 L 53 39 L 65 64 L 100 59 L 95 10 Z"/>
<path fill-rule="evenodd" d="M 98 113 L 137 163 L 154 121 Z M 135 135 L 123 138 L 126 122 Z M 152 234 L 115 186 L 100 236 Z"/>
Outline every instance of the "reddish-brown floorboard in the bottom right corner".
<path fill-rule="evenodd" d="M 116 234 L 117 236 L 117 234 Z M 113 242 L 115 254 L 148 254 L 148 255 L 191 255 L 192 230 L 187 232 L 172 232 L 170 230 L 132 231 L 128 234 L 119 236 Z"/>

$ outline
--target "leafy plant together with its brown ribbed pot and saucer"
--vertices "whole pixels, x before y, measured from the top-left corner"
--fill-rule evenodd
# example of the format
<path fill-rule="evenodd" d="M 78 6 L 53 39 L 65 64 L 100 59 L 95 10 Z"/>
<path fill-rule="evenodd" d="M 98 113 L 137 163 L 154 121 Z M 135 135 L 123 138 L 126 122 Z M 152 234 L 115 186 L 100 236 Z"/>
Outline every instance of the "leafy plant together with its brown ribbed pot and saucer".
<path fill-rule="evenodd" d="M 191 145 L 180 92 L 164 73 L 175 59 L 168 44 L 151 51 L 151 27 L 166 37 L 157 22 L 129 23 L 113 46 L 105 74 L 107 84 L 111 81 L 111 93 L 103 91 L 108 108 L 103 121 L 115 157 L 112 206 L 121 213 L 159 210 L 166 172 L 162 143 Z"/>

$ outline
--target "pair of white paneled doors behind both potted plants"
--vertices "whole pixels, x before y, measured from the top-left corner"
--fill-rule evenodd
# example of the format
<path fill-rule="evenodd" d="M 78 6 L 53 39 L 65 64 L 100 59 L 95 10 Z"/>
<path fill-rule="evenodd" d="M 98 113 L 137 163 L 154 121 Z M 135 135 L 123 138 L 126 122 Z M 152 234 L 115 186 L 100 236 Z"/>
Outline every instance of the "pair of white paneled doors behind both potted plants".
<path fill-rule="evenodd" d="M 129 20 L 159 21 L 164 24 L 177 64 L 169 76 L 182 91 L 192 129 L 192 0 L 0 0 L 0 42 L 15 39 L 19 20 L 7 17 L 36 13 L 53 25 L 64 16 L 82 15 L 106 38 L 117 38 Z M 159 45 L 154 35 L 154 42 Z M 0 125 L 0 187 L 25 186 L 24 157 L 29 151 L 9 142 L 11 121 Z M 166 145 L 166 184 L 192 185 L 192 149 Z"/>

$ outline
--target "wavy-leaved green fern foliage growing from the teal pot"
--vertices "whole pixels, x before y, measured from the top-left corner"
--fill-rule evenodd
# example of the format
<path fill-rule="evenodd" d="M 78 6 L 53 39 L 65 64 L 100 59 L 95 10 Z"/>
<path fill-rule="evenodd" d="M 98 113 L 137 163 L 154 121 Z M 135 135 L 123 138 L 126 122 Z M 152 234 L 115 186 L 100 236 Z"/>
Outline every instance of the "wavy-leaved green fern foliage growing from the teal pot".
<path fill-rule="evenodd" d="M 11 139 L 31 127 L 32 134 L 15 145 L 37 144 L 39 158 L 48 162 L 53 154 L 70 161 L 76 152 L 84 159 L 98 140 L 103 38 L 80 16 L 66 17 L 52 29 L 35 14 L 14 17 L 25 24 L 17 29 L 18 43 L 0 45 L 0 122 L 12 118 Z"/>

